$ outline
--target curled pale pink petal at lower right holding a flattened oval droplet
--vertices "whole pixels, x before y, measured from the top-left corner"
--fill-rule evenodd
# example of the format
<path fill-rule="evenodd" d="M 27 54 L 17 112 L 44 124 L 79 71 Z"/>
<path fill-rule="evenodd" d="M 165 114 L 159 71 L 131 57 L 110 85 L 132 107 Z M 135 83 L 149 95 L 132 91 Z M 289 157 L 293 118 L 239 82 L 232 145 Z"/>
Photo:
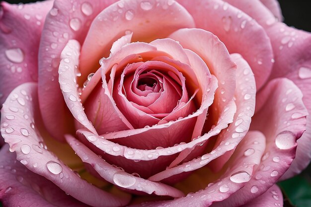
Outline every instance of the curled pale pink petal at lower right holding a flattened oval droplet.
<path fill-rule="evenodd" d="M 254 144 L 254 142 L 256 144 Z M 245 155 L 245 151 L 252 148 L 253 153 Z M 215 182 L 196 193 L 189 193 L 186 197 L 173 201 L 145 203 L 146 207 L 157 206 L 199 206 L 209 207 L 215 202 L 222 203 L 241 189 L 251 179 L 254 167 L 260 162 L 265 148 L 265 137 L 260 132 L 249 132 L 236 148 L 227 171 Z M 188 166 L 189 167 L 189 166 Z M 138 207 L 142 205 L 133 205 Z"/>

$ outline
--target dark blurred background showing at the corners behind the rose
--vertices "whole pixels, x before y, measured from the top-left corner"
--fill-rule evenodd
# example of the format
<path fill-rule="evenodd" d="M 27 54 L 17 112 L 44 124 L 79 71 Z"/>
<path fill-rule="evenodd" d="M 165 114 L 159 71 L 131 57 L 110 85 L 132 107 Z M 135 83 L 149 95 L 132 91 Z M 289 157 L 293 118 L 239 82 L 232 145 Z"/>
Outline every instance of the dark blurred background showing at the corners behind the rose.
<path fill-rule="evenodd" d="M 6 1 L 27 3 L 37 0 Z M 287 25 L 311 32 L 311 0 L 278 1 Z M 278 185 L 284 194 L 284 207 L 311 207 L 311 165 L 300 175 L 280 182 Z"/>

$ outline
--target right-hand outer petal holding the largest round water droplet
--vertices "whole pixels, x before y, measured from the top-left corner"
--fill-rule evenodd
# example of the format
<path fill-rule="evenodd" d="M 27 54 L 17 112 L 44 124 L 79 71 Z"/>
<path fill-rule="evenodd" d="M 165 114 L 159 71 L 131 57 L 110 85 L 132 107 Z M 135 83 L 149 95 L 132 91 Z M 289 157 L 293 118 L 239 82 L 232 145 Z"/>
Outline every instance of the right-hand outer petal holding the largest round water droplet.
<path fill-rule="evenodd" d="M 256 101 L 264 102 L 252 118 L 251 130 L 260 130 L 266 137 L 261 162 L 247 184 L 215 207 L 235 207 L 247 204 L 265 193 L 290 167 L 295 158 L 297 142 L 306 128 L 307 110 L 299 88 L 286 78 L 270 81 Z M 294 113 L 302 114 L 292 119 Z M 268 118 L 267 118 L 268 117 Z"/>

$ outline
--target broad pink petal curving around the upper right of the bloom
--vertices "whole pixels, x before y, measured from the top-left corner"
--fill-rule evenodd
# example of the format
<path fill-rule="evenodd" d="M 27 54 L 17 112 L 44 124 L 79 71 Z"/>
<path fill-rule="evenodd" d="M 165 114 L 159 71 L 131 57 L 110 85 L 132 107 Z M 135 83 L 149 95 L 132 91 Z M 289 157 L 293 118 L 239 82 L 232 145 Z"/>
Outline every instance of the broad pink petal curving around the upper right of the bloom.
<path fill-rule="evenodd" d="M 239 2 L 239 0 L 236 1 Z M 252 1 L 248 1 L 248 4 L 252 4 Z M 243 9 L 236 9 L 222 0 L 194 2 L 179 0 L 179 2 L 191 13 L 197 28 L 211 31 L 225 43 L 230 53 L 239 53 L 243 56 L 255 74 L 256 87 L 259 90 L 270 75 L 273 52 L 269 37 L 264 29 L 250 17 L 252 15 L 248 16 L 241 11 Z M 258 10 L 258 13 L 260 11 Z M 260 15 L 265 14 L 260 13 Z"/>

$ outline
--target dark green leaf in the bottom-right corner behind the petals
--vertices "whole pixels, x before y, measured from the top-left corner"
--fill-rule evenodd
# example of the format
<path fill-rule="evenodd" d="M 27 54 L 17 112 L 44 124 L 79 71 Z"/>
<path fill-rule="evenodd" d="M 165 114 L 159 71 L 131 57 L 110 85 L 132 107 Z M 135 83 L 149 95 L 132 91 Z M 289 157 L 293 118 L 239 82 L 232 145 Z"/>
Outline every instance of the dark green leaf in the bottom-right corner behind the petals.
<path fill-rule="evenodd" d="M 293 207 L 311 207 L 311 182 L 308 177 L 298 175 L 279 182 L 278 185 Z"/>

